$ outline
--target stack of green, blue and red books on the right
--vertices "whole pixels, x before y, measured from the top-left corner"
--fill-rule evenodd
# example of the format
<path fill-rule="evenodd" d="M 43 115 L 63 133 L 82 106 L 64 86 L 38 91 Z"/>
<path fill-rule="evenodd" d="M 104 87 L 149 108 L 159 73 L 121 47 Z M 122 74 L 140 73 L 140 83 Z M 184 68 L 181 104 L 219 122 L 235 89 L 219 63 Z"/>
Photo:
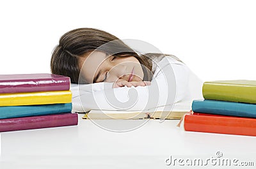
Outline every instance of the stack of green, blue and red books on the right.
<path fill-rule="evenodd" d="M 205 82 L 203 95 L 184 115 L 186 131 L 256 136 L 255 80 Z"/>

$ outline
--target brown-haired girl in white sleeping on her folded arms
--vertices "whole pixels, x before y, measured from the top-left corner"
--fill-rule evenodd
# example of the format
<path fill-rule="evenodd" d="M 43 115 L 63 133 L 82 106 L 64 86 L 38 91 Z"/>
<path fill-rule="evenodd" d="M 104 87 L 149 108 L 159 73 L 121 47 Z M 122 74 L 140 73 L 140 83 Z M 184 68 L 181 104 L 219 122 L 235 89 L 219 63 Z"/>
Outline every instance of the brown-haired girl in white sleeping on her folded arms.
<path fill-rule="evenodd" d="M 180 59 L 140 54 L 99 29 L 80 28 L 63 34 L 52 53 L 51 72 L 70 77 L 74 112 L 143 110 L 202 98 L 202 81 Z M 86 85 L 78 88 L 74 84 Z M 132 96 L 131 87 L 136 91 Z"/>

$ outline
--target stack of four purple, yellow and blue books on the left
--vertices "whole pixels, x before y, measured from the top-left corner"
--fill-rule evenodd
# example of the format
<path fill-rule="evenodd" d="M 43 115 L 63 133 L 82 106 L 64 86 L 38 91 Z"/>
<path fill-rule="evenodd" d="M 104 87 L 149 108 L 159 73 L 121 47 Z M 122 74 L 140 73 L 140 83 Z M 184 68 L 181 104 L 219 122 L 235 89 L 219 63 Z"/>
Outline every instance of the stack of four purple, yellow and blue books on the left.
<path fill-rule="evenodd" d="M 69 77 L 0 75 L 0 132 L 77 125 L 71 102 Z"/>

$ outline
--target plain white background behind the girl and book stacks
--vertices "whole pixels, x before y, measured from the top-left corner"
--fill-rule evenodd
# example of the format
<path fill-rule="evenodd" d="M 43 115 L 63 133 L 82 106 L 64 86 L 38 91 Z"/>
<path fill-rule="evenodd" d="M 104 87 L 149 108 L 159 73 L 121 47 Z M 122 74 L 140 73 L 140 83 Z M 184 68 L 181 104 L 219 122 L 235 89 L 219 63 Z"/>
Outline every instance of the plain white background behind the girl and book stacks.
<path fill-rule="evenodd" d="M 254 79 L 255 1 L 1 1 L 0 73 L 50 73 L 60 36 L 78 27 L 151 43 L 202 80 Z"/>

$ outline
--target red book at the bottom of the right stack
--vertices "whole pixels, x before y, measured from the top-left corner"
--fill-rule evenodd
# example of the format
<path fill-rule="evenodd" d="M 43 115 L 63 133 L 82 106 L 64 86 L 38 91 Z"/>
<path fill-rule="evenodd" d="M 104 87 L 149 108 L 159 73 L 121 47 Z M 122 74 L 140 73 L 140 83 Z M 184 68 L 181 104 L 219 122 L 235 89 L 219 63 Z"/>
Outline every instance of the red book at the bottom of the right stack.
<path fill-rule="evenodd" d="M 184 130 L 204 133 L 256 136 L 256 119 L 189 112 L 184 115 Z"/>

